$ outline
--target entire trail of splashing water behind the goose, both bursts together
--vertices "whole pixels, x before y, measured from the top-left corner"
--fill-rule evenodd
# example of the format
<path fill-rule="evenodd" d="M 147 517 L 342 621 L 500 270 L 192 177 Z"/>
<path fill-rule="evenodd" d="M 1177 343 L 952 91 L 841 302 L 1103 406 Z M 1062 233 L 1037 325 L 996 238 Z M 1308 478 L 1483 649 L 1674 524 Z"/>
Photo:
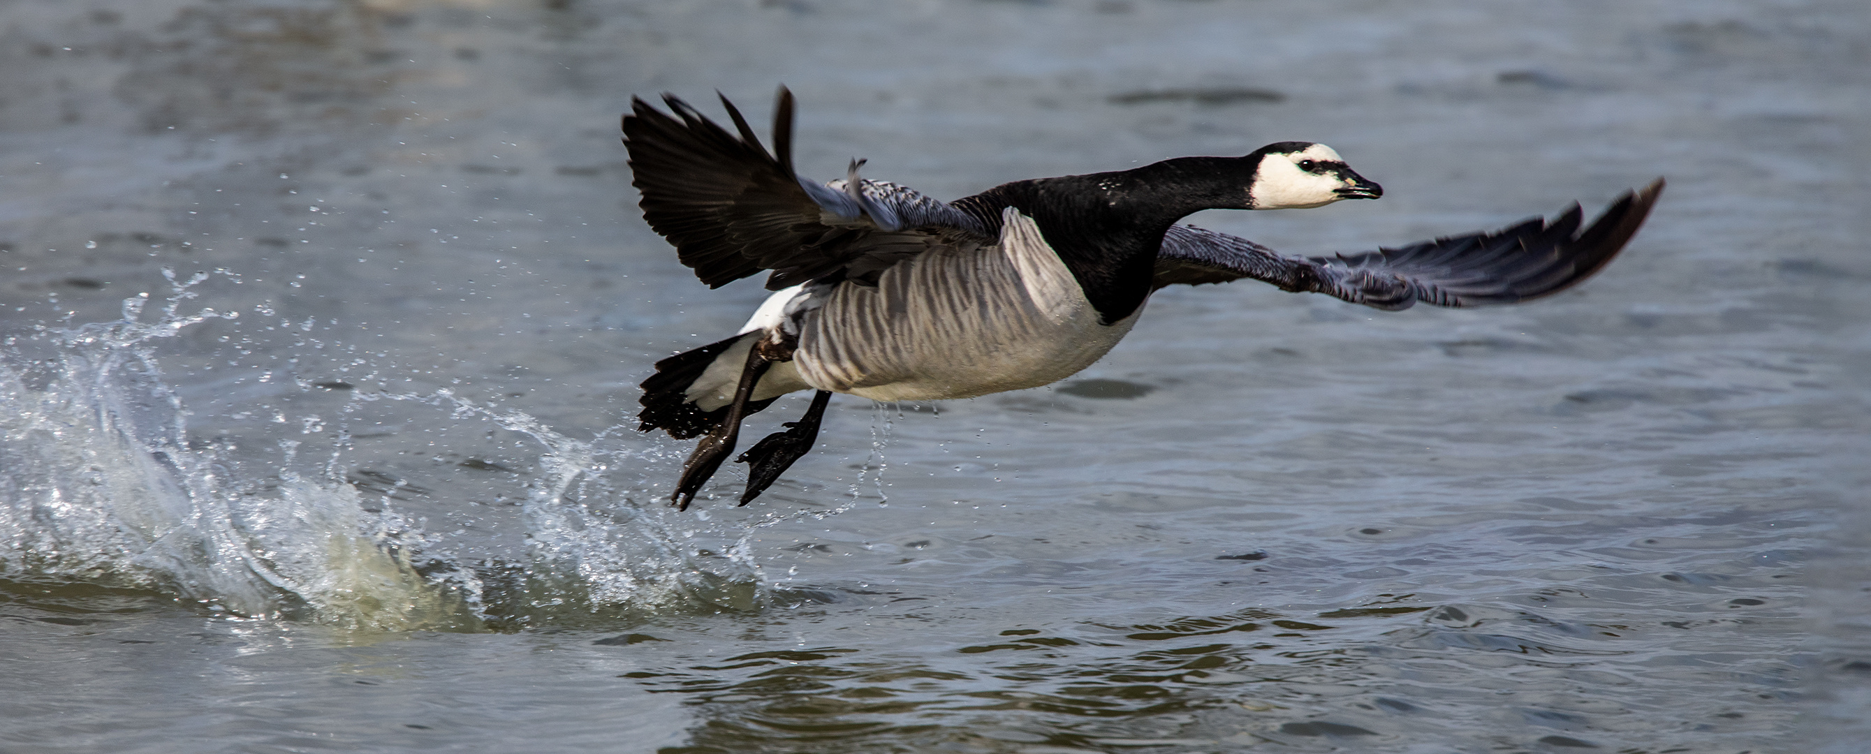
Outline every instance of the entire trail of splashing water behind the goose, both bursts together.
<path fill-rule="evenodd" d="M 238 312 L 183 314 L 211 275 L 165 275 L 172 294 L 155 316 L 144 314 L 144 294 L 127 299 L 116 322 L 39 327 L 0 350 L 0 400 L 13 406 L 0 415 L 0 573 L 9 578 L 159 589 L 241 616 L 365 631 L 513 631 L 758 610 L 776 593 L 754 556 L 754 535 L 844 513 L 863 498 L 864 477 L 881 473 L 887 417 L 881 434 L 872 428 L 870 457 L 838 505 L 711 520 L 707 511 L 675 513 L 647 492 L 644 473 L 666 460 L 660 449 L 604 432 L 567 438 L 528 413 L 449 389 L 352 391 L 329 421 L 335 434 L 316 432 L 337 438 L 329 455 L 311 440 L 326 419 L 307 415 L 307 432 L 268 430 L 279 455 L 253 464 L 236 458 L 234 443 L 189 442 L 189 410 L 157 363 L 163 339 Z M 271 385 L 292 389 L 290 380 Z M 320 393 L 314 384 L 297 389 Z M 412 419 L 432 428 L 488 421 L 529 438 L 537 466 L 516 481 L 524 544 L 500 550 L 425 531 L 423 516 L 391 505 L 400 481 L 382 500 L 346 483 L 346 468 L 363 453 L 352 427 L 389 404 L 434 408 Z M 286 412 L 266 408 L 279 427 L 294 427 Z M 466 505 L 447 496 L 434 503 Z"/>

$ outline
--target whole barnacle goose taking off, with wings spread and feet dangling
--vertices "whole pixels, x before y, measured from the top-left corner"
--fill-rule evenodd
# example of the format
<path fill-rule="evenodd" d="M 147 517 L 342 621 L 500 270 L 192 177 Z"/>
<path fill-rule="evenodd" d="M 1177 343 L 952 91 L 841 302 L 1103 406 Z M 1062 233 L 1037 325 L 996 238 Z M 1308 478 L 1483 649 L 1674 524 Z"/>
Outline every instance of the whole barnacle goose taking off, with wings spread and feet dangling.
<path fill-rule="evenodd" d="M 741 419 L 812 389 L 805 417 L 737 460 L 741 505 L 812 449 L 831 393 L 936 400 L 1037 387 L 1098 361 L 1151 292 L 1242 277 L 1375 309 L 1527 301 L 1590 277 L 1630 241 L 1663 180 L 1590 225 L 1574 204 L 1495 230 L 1336 256 L 1285 256 L 1179 219 L 1199 210 L 1317 208 L 1383 189 L 1325 144 L 1278 142 L 1244 157 L 1177 157 L 1132 170 L 1003 183 L 954 202 L 907 187 L 793 172 L 793 95 L 773 116 L 773 153 L 720 97 L 737 133 L 664 94 L 623 116 L 644 219 L 718 288 L 771 269 L 775 294 L 730 339 L 657 363 L 642 430 L 703 434 L 670 501 L 733 453 Z"/>

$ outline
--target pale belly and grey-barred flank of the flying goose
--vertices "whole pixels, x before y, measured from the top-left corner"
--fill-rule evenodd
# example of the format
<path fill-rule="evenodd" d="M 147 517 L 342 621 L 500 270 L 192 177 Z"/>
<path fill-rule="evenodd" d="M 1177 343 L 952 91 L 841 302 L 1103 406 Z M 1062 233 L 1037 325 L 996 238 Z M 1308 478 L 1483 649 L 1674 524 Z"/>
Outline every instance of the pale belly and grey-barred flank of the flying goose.
<path fill-rule="evenodd" d="M 874 400 L 971 399 L 1038 387 L 1091 367 L 1130 333 L 1110 326 L 1018 210 L 1001 243 L 936 249 L 842 284 L 801 322 L 799 380 Z"/>

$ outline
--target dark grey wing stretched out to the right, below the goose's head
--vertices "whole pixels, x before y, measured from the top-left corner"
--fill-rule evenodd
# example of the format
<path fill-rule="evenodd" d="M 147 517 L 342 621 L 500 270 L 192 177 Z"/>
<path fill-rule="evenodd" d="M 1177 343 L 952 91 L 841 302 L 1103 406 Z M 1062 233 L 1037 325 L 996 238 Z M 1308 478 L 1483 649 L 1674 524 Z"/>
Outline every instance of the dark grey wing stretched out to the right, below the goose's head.
<path fill-rule="evenodd" d="M 1583 230 L 1583 213 L 1574 204 L 1553 221 L 1534 217 L 1495 232 L 1336 256 L 1285 256 L 1242 238 L 1175 226 L 1156 254 L 1154 283 L 1162 288 L 1252 277 L 1386 311 L 1416 301 L 1437 307 L 1527 301 L 1566 290 L 1611 262 L 1661 193 L 1658 178 L 1618 196 Z"/>

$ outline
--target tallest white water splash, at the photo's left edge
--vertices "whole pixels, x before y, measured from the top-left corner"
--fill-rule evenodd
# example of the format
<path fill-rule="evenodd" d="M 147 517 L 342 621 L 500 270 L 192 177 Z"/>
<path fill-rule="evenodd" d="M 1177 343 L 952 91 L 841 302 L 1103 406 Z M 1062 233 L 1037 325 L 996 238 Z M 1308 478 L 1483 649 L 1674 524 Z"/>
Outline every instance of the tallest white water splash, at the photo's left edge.
<path fill-rule="evenodd" d="M 234 479 L 219 449 L 189 447 L 153 342 L 238 312 L 181 314 L 210 275 L 163 275 L 172 294 L 153 322 L 144 294 L 116 322 L 6 341 L 0 571 L 153 587 L 243 616 L 473 629 L 471 593 L 421 576 L 395 516 L 365 515 L 355 490 L 292 473 Z"/>

